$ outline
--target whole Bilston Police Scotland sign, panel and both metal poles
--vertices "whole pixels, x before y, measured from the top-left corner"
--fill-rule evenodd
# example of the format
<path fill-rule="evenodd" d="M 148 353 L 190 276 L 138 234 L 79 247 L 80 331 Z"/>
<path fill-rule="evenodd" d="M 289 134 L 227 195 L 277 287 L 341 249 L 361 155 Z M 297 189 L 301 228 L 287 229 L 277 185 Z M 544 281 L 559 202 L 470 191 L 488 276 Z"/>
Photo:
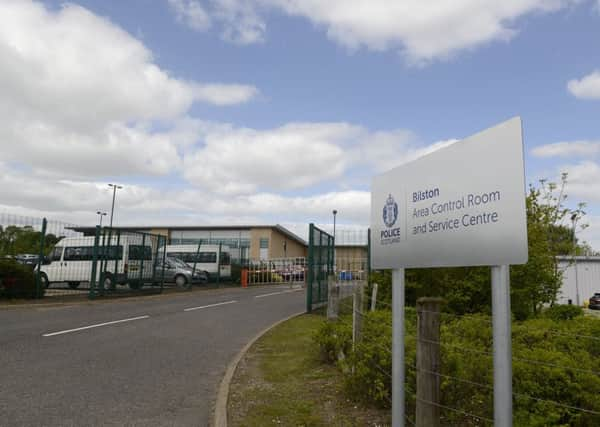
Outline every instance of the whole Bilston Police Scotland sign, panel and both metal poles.
<path fill-rule="evenodd" d="M 512 425 L 509 265 L 527 262 L 520 118 L 374 178 L 371 268 L 392 269 L 392 425 L 404 425 L 404 269 L 492 267 L 494 417 Z"/>

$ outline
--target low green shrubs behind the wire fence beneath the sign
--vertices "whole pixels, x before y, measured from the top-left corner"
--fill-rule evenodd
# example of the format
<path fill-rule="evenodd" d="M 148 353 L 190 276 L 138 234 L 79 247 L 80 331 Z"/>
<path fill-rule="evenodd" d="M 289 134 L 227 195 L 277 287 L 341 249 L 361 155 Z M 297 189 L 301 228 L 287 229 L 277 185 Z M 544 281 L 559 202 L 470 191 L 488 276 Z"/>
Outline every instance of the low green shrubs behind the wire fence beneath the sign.
<path fill-rule="evenodd" d="M 600 412 L 600 321 L 557 308 L 551 317 L 513 322 L 513 391 L 515 426 L 596 426 L 600 417 L 569 409 Z M 569 314 L 565 314 L 569 313 Z M 571 319 L 565 321 L 564 319 Z M 348 396 L 382 407 L 391 399 L 391 312 L 366 313 L 362 341 L 352 351 L 347 333 L 324 324 L 317 344 L 329 356 L 340 348 L 338 362 Z M 341 322 L 339 322 L 341 323 Z M 333 326 L 332 326 L 333 325 Z M 416 395 L 416 314 L 406 308 L 406 405 L 414 413 Z M 442 316 L 442 405 L 493 419 L 491 318 L 487 315 Z M 557 402 L 558 405 L 553 403 Z M 442 411 L 444 425 L 480 425 L 476 419 Z"/>

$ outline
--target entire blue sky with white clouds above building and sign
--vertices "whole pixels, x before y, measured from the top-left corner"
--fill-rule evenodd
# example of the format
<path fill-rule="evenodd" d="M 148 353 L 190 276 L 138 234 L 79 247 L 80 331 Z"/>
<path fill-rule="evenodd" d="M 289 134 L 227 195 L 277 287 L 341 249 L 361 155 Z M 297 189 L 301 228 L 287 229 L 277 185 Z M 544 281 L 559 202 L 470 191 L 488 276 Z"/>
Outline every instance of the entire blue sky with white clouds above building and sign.
<path fill-rule="evenodd" d="M 0 0 L 0 212 L 361 229 L 373 176 L 521 116 L 600 250 L 599 113 L 598 0 Z"/>

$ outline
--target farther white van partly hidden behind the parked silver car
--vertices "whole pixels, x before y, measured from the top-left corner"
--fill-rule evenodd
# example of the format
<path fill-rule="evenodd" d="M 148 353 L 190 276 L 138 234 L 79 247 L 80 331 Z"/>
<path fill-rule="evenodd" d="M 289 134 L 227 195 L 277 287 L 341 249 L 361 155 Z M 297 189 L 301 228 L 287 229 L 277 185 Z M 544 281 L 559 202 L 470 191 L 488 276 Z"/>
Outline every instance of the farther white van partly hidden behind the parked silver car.
<path fill-rule="evenodd" d="M 229 246 L 221 245 L 167 245 L 167 256 L 179 258 L 190 267 L 196 262 L 197 271 L 205 271 L 209 278 L 215 279 L 217 271 L 220 278 L 231 278 L 231 251 Z M 218 270 L 217 270 L 218 268 Z"/>

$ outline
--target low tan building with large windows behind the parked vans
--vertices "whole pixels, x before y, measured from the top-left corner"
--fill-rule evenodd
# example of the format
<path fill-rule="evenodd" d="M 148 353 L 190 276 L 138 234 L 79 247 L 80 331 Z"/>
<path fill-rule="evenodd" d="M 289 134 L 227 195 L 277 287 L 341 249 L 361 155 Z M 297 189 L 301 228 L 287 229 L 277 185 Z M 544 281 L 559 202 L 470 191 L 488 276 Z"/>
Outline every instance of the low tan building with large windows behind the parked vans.
<path fill-rule="evenodd" d="M 115 227 L 123 231 L 141 231 L 165 236 L 168 243 L 223 244 L 231 249 L 234 262 L 274 258 L 305 257 L 307 242 L 281 225 L 226 225 L 226 226 L 146 226 Z M 94 227 L 75 227 L 86 235 Z"/>

